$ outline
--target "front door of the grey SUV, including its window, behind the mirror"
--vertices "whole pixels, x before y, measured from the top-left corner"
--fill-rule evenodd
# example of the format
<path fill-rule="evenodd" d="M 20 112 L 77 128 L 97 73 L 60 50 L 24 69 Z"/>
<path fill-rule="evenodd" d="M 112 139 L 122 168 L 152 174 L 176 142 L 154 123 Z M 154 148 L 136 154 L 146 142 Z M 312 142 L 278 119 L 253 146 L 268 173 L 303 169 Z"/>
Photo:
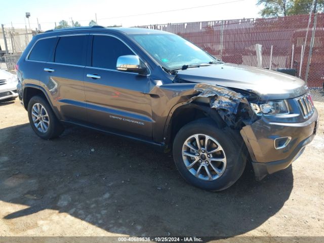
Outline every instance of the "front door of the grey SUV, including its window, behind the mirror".
<path fill-rule="evenodd" d="M 151 139 L 151 100 L 145 94 L 148 76 L 116 70 L 119 56 L 136 54 L 115 36 L 90 36 L 92 58 L 84 74 L 89 122 L 105 130 Z"/>

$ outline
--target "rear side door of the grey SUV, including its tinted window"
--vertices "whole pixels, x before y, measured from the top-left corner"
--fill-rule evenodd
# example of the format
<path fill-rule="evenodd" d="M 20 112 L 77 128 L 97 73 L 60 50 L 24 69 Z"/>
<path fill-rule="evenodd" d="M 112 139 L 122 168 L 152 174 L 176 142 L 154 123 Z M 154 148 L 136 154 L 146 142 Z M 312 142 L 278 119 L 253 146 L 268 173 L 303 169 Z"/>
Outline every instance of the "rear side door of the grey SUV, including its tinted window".
<path fill-rule="evenodd" d="M 43 72 L 44 84 L 61 119 L 74 123 L 87 121 L 83 74 L 89 34 L 58 36 L 51 62 Z"/>

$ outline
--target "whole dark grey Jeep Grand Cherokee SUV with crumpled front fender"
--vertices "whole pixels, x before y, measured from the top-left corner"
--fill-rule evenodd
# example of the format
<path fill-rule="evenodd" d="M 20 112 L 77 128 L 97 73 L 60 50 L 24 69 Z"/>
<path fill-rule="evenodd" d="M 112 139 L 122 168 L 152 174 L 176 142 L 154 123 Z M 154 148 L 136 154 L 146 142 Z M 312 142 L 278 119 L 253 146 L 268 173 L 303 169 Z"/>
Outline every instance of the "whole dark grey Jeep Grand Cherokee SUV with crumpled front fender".
<path fill-rule="evenodd" d="M 235 183 L 247 161 L 258 180 L 287 168 L 318 125 L 303 80 L 221 62 L 163 31 L 49 30 L 33 37 L 17 74 L 39 137 L 74 124 L 172 150 L 184 179 L 211 191 Z"/>

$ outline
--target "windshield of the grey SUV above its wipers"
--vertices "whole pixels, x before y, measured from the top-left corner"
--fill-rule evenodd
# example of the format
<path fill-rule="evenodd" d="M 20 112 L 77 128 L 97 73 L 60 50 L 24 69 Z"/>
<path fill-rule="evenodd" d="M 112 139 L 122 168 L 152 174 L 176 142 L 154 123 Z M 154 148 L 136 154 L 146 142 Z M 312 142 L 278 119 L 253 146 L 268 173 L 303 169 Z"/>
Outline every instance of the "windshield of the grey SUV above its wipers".
<path fill-rule="evenodd" d="M 135 34 L 132 37 L 151 57 L 167 69 L 218 61 L 175 34 Z"/>

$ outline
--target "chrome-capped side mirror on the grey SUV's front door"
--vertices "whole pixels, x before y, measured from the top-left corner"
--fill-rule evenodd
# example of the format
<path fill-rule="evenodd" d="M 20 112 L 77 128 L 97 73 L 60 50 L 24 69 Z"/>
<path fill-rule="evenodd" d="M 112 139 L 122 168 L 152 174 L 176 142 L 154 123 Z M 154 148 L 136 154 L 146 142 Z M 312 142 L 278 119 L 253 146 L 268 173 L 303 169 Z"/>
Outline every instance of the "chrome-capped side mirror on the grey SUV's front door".
<path fill-rule="evenodd" d="M 146 73 L 146 67 L 141 65 L 141 60 L 136 55 L 120 56 L 117 59 L 116 69 L 125 72 Z"/>

